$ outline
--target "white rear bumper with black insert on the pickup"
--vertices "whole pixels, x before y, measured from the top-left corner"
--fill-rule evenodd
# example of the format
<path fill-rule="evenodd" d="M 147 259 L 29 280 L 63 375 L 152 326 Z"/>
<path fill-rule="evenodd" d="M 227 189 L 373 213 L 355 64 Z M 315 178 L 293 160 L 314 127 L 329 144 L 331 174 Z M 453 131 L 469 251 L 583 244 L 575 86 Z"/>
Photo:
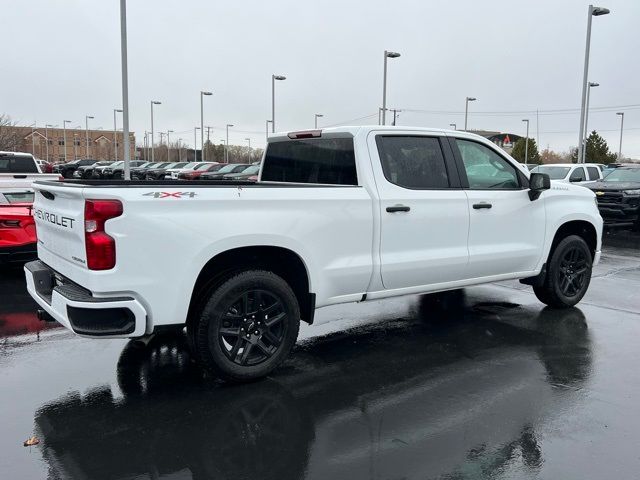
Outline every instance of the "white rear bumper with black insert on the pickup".
<path fill-rule="evenodd" d="M 27 291 L 60 324 L 85 337 L 128 338 L 145 334 L 147 314 L 135 298 L 96 297 L 44 262 L 24 266 Z"/>

